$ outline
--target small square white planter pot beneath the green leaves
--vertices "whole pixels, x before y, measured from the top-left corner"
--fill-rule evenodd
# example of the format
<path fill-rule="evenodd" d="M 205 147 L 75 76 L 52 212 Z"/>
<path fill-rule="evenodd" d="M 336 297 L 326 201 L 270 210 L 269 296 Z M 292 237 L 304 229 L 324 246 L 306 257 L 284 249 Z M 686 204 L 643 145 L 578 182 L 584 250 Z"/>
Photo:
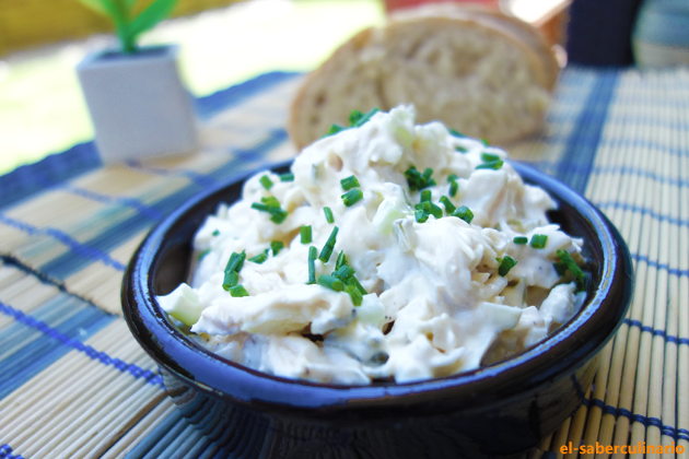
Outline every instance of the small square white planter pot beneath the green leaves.
<path fill-rule="evenodd" d="M 197 145 L 191 96 L 179 81 L 177 47 L 87 56 L 77 73 L 104 162 L 177 155 Z"/>

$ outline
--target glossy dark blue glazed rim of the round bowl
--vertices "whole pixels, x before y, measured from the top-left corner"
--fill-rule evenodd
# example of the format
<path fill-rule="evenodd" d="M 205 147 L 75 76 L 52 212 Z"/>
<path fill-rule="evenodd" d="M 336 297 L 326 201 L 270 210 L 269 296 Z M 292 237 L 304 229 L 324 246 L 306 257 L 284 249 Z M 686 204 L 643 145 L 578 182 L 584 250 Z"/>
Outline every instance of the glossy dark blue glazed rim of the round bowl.
<path fill-rule="evenodd" d="M 505 361 L 474 370 L 442 378 L 366 386 L 289 379 L 244 367 L 213 354 L 173 327 L 151 294 L 152 270 L 161 257 L 159 249 L 179 219 L 187 213 L 194 214 L 194 209 L 206 199 L 241 186 L 260 170 L 285 168 L 292 162 L 265 165 L 188 199 L 151 229 L 128 266 L 121 295 L 125 318 L 132 334 L 159 365 L 198 390 L 235 402 L 307 411 L 324 408 L 408 408 L 442 399 L 455 403 L 464 400 L 468 405 L 498 398 L 504 400 L 586 363 L 612 337 L 624 318 L 631 299 L 632 264 L 629 249 L 615 226 L 591 202 L 564 184 L 524 163 L 510 161 L 524 181 L 545 188 L 556 201 L 571 205 L 595 231 L 604 255 L 603 260 L 598 260 L 600 283 L 593 291 L 593 297 L 587 298 L 573 318 L 545 340 Z"/>

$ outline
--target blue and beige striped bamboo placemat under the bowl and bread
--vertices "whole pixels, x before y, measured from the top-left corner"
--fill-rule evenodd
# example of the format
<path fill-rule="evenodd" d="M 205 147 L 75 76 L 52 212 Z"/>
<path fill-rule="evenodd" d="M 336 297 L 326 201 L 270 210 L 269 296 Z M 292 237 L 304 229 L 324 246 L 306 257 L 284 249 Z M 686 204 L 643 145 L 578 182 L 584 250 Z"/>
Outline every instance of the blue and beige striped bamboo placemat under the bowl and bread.
<path fill-rule="evenodd" d="M 165 397 L 119 317 L 119 286 L 164 214 L 295 154 L 284 123 L 299 82 L 270 73 L 198 101 L 203 148 L 190 156 L 102 167 L 89 143 L 0 177 L 0 459 L 234 457 Z M 687 145 L 689 71 L 570 68 L 545 137 L 511 150 L 597 204 L 637 272 L 584 405 L 533 458 L 562 457 L 570 442 L 567 458 L 596 442 L 679 445 L 689 457 Z M 626 457 L 582 457 L 594 456 Z"/>

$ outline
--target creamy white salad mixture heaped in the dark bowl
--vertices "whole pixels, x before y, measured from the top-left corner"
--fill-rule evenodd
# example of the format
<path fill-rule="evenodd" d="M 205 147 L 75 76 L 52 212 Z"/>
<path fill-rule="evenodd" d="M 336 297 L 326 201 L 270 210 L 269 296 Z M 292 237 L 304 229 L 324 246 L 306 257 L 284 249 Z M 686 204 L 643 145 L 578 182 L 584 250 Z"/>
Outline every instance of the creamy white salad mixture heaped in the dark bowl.
<path fill-rule="evenodd" d="M 218 354 L 261 372 L 332 384 L 372 379 L 409 381 L 474 369 L 544 339 L 581 307 L 584 293 L 553 268 L 557 250 L 581 262 L 582 242 L 548 223 L 552 199 L 525 185 L 505 163 L 477 169 L 482 153 L 502 160 L 495 146 L 455 137 L 441 122 L 414 126 L 412 107 L 377 113 L 360 128 L 306 148 L 292 165 L 294 181 L 265 172 L 248 179 L 242 200 L 220 205 L 198 229 L 197 252 L 207 251 L 190 285 L 159 296 L 160 305 L 195 339 Z M 466 150 L 459 152 L 457 149 Z M 471 223 L 443 212 L 414 219 L 420 191 L 404 176 L 410 165 L 433 169 L 432 202 L 442 196 L 474 213 Z M 447 177 L 457 176 L 449 196 Z M 267 190 L 259 181 L 272 181 Z M 354 175 L 363 199 L 342 203 L 340 180 Z M 289 212 L 276 224 L 253 202 L 275 197 Z M 329 224 L 324 207 L 332 210 Z M 313 242 L 301 244 L 311 225 Z M 335 226 L 335 250 L 315 261 L 316 278 L 331 274 L 343 251 L 366 290 L 354 306 L 344 292 L 308 281 L 308 247 L 320 249 Z M 545 248 L 514 243 L 547 235 Z M 233 252 L 254 257 L 279 240 L 277 256 L 245 261 L 238 283 L 249 296 L 223 290 Z M 499 275 L 498 258 L 517 261 Z"/>

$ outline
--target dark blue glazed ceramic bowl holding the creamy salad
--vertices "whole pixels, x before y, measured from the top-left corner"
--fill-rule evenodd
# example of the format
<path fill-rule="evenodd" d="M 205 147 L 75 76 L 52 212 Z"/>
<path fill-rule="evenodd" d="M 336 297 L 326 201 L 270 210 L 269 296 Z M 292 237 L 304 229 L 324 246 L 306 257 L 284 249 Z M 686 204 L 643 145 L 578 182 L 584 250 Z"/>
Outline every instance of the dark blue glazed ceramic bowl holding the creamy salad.
<path fill-rule="evenodd" d="M 277 167 L 285 172 L 289 163 Z M 632 264 L 612 224 L 556 179 L 512 163 L 546 189 L 549 214 L 582 237 L 593 274 L 581 311 L 524 352 L 458 375 L 407 384 L 332 386 L 266 375 L 210 353 L 180 333 L 154 295 L 189 270 L 190 242 L 219 202 L 241 196 L 237 179 L 198 196 L 163 220 L 129 263 L 122 307 L 131 332 L 157 362 L 184 415 L 242 458 L 482 458 L 519 455 L 582 403 L 598 351 L 629 306 Z"/>

